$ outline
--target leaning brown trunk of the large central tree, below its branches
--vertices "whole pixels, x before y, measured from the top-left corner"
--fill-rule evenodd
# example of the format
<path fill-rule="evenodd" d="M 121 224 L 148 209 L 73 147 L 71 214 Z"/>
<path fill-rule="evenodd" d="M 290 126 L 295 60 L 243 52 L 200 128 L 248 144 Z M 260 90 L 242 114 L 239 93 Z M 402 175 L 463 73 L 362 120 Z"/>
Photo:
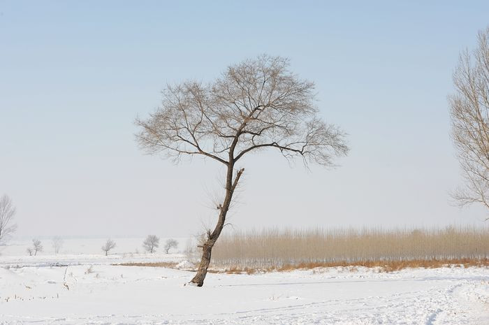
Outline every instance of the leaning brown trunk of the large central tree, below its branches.
<path fill-rule="evenodd" d="M 219 238 L 222 229 L 224 228 L 224 224 L 226 222 L 226 215 L 229 210 L 229 206 L 231 205 L 231 200 L 233 198 L 234 190 L 236 189 L 236 185 L 238 185 L 238 181 L 240 180 L 241 174 L 245 171 L 245 168 L 241 168 L 238 173 L 236 173 L 235 180 L 233 182 L 233 165 L 228 165 L 228 173 L 226 176 L 226 197 L 224 198 L 224 202 L 222 205 L 219 205 L 219 219 L 217 220 L 216 227 L 212 233 L 208 231 L 207 240 L 202 245 L 202 259 L 200 259 L 200 264 L 198 266 L 197 274 L 190 281 L 197 285 L 197 287 L 202 287 L 204 284 L 205 275 L 207 275 L 207 268 L 209 268 L 210 257 L 212 254 L 212 247 Z"/>

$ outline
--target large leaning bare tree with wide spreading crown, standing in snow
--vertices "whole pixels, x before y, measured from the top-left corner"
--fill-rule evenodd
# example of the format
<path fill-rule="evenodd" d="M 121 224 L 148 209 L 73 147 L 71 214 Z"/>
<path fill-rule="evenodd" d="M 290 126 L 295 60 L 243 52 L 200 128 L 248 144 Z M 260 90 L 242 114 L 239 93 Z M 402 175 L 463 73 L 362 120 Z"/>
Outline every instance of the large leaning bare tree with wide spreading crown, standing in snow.
<path fill-rule="evenodd" d="M 200 155 L 226 168 L 217 224 L 207 230 L 191 280 L 200 287 L 245 171 L 237 166 L 245 155 L 274 148 L 286 159 L 301 157 L 305 164 L 333 166 L 333 158 L 345 155 L 348 147 L 344 132 L 319 118 L 314 83 L 291 73 L 283 57 L 249 59 L 229 66 L 214 82 L 182 82 L 162 93 L 161 107 L 147 120 L 136 120 L 140 147 L 175 161 Z"/>

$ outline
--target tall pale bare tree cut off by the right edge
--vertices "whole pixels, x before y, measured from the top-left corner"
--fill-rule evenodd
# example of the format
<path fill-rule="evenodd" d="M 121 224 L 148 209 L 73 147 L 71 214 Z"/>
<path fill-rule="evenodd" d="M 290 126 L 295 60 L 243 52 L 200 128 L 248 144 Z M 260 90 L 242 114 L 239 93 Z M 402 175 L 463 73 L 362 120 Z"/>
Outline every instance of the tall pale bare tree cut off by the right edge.
<path fill-rule="evenodd" d="M 489 208 L 489 27 L 479 31 L 479 46 L 460 54 L 448 97 L 452 138 L 464 186 L 453 197 L 460 205 Z"/>

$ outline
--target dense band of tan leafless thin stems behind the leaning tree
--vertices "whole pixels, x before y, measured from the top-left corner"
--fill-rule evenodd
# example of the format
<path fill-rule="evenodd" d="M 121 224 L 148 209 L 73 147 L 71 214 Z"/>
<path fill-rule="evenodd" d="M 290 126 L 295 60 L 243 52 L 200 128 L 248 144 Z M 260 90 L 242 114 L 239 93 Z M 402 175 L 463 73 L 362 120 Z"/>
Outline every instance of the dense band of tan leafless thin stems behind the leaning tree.
<path fill-rule="evenodd" d="M 219 238 L 212 266 L 270 269 L 297 266 L 487 265 L 488 226 L 439 229 L 263 229 Z M 427 263 L 430 262 L 430 263 Z"/>

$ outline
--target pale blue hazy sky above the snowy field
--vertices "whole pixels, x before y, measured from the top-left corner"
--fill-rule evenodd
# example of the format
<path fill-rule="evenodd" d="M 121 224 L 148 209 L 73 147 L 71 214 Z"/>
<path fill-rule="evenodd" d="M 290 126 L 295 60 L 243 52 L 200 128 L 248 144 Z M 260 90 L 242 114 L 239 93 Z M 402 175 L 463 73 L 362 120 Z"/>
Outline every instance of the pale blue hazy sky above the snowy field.
<path fill-rule="evenodd" d="M 0 194 L 17 205 L 17 235 L 212 224 L 218 163 L 144 155 L 133 120 L 167 82 L 262 53 L 316 82 L 351 153 L 334 170 L 276 152 L 243 160 L 235 228 L 483 224 L 485 210 L 450 202 L 460 174 L 446 96 L 489 2 L 427 2 L 0 1 Z"/>

